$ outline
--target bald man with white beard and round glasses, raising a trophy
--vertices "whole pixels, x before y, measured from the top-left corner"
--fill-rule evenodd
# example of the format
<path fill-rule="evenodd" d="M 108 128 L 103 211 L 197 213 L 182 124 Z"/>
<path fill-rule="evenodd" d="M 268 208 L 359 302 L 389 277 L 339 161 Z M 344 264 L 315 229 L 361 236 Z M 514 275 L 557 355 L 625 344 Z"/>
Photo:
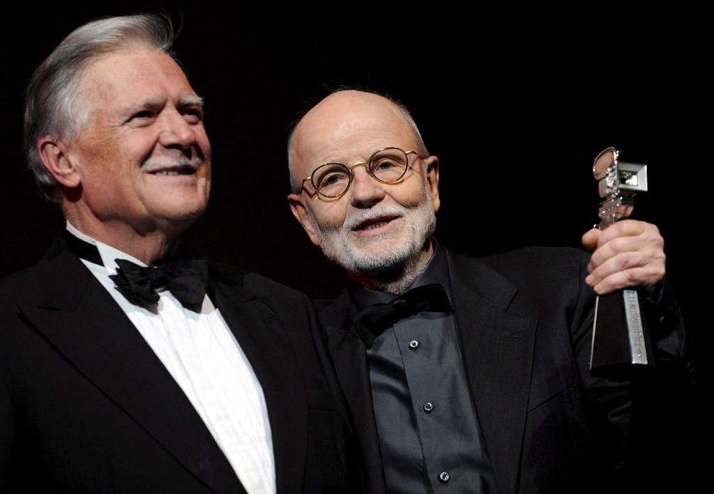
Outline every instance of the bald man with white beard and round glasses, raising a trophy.
<path fill-rule="evenodd" d="M 320 318 L 371 492 L 602 492 L 627 475 L 635 387 L 590 375 L 595 295 L 660 293 L 655 226 L 590 231 L 592 256 L 458 255 L 432 237 L 438 158 L 403 106 L 362 91 L 308 111 L 288 159 L 294 216 L 351 279 Z M 677 340 L 667 321 L 655 335 Z"/>

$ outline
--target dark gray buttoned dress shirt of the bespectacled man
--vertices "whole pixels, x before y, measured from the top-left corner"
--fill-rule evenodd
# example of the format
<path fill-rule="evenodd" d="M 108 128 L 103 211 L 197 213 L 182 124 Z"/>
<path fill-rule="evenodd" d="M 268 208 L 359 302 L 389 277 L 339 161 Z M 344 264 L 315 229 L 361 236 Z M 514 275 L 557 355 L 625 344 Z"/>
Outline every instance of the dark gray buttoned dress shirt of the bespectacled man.
<path fill-rule="evenodd" d="M 431 283 L 453 305 L 440 246 L 412 288 Z M 394 298 L 366 287 L 351 297 L 358 311 Z M 453 313 L 402 319 L 376 338 L 367 361 L 388 491 L 495 493 Z"/>

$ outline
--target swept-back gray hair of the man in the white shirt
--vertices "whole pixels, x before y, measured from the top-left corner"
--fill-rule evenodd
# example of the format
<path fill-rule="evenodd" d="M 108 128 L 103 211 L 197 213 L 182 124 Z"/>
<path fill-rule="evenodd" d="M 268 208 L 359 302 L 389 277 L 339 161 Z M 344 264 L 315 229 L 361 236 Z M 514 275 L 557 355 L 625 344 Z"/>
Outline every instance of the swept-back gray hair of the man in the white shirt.
<path fill-rule="evenodd" d="M 53 136 L 66 142 L 79 137 L 89 120 L 76 109 L 84 68 L 97 56 L 134 46 L 153 46 L 176 60 L 174 28 L 165 16 L 109 17 L 84 24 L 69 34 L 32 74 L 25 94 L 24 148 L 27 165 L 41 193 L 58 201 L 59 184 L 45 168 L 37 141 Z"/>

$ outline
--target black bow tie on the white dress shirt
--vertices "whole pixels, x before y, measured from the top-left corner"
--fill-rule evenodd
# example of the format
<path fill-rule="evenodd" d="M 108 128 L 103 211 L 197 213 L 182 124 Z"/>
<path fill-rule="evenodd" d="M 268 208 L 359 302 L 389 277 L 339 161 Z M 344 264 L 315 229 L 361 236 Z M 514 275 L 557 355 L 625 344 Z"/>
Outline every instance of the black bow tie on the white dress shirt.
<path fill-rule="evenodd" d="M 137 300 L 154 304 L 159 301 L 159 288 L 166 288 L 183 306 L 200 306 L 208 286 L 206 259 L 185 258 L 154 268 L 138 266 L 116 259 L 119 269 L 109 276 L 116 288 L 132 303 Z"/>

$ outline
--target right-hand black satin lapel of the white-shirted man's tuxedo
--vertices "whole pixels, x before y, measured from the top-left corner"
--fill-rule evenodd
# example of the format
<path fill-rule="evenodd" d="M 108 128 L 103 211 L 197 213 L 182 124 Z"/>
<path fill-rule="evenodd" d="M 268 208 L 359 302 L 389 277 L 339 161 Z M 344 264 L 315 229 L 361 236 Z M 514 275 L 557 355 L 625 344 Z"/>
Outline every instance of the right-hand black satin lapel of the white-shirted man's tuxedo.
<path fill-rule="evenodd" d="M 303 485 L 308 442 L 308 401 L 296 355 L 271 307 L 233 283 L 216 283 L 216 307 L 236 336 L 263 388 L 273 435 L 278 493 Z"/>

